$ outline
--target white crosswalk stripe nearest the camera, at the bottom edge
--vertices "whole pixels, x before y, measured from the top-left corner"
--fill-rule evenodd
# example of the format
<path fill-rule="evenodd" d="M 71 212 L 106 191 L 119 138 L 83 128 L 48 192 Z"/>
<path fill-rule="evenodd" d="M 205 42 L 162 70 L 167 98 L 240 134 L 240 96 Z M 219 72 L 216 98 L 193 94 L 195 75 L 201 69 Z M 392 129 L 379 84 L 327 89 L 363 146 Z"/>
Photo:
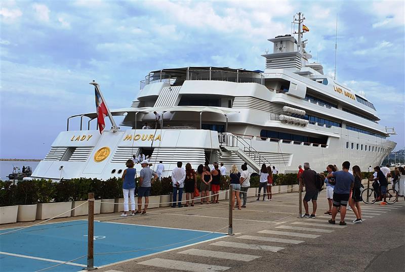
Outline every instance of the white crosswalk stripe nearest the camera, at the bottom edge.
<path fill-rule="evenodd" d="M 138 264 L 149 265 L 155 267 L 163 267 L 173 270 L 184 270 L 184 271 L 193 271 L 193 272 L 209 272 L 209 271 L 225 271 L 230 267 L 211 265 L 204 263 L 195 263 L 187 261 L 176 261 L 168 259 L 154 258 L 146 261 L 139 262 Z"/>

